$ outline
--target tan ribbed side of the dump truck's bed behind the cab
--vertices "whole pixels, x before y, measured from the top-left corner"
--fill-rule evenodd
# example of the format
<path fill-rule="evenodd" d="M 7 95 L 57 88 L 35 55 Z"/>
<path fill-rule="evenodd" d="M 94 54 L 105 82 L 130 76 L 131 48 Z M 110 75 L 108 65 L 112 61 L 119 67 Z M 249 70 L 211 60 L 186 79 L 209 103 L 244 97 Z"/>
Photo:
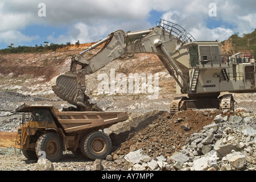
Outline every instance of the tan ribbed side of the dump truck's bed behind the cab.
<path fill-rule="evenodd" d="M 115 123 L 126 121 L 127 112 L 62 111 L 55 113 L 66 133 L 89 129 L 105 129 Z"/>

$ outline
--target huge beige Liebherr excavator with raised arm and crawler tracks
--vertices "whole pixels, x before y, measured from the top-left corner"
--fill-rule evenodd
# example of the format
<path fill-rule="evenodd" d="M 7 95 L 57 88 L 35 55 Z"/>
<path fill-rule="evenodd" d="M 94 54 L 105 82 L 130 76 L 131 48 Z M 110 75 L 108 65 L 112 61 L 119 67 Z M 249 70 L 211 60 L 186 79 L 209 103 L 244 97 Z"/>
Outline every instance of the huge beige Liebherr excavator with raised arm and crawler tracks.
<path fill-rule="evenodd" d="M 142 36 L 126 44 L 126 39 Z M 104 47 L 86 60 L 82 55 L 101 44 Z M 187 97 L 175 98 L 170 112 L 187 109 L 234 110 L 234 99 L 229 93 L 253 93 L 255 85 L 255 56 L 222 55 L 218 41 L 196 41 L 191 34 L 175 23 L 161 19 L 147 30 L 127 32 L 117 30 L 90 46 L 71 60 L 67 73 L 52 79 L 52 89 L 61 99 L 86 110 L 85 75 L 92 74 L 119 57 L 134 53 L 152 53 L 176 81 L 176 93 Z M 81 65 L 81 69 L 77 69 Z M 168 86 L 168 85 L 167 85 Z"/>

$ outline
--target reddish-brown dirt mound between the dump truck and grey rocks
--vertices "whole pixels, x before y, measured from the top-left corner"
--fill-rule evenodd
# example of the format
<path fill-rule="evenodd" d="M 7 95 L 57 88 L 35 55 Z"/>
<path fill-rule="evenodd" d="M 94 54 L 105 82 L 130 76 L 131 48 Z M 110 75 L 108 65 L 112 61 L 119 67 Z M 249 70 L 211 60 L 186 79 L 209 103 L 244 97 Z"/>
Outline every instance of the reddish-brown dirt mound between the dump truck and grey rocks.
<path fill-rule="evenodd" d="M 192 133 L 197 133 L 205 125 L 212 123 L 217 114 L 220 113 L 187 110 L 171 116 L 164 111 L 152 124 L 144 127 L 141 131 L 129 133 L 127 140 L 119 144 L 112 155 L 126 155 L 142 148 L 151 157 L 169 156 L 175 151 L 179 151 Z M 122 135 L 119 134 L 118 137 L 122 137 Z"/>

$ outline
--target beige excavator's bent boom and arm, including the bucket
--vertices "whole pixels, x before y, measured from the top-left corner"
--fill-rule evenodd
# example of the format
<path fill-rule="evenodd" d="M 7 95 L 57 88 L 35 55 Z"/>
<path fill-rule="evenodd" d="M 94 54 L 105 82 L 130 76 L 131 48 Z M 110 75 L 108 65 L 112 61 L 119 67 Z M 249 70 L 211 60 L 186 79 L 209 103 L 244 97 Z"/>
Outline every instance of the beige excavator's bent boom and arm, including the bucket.
<path fill-rule="evenodd" d="M 126 45 L 126 38 L 144 35 L 142 39 Z M 67 73 L 52 79 L 52 89 L 61 99 L 86 110 L 89 104 L 85 95 L 85 75 L 92 74 L 118 57 L 133 56 L 134 53 L 153 53 L 159 57 L 167 71 L 173 76 L 181 88 L 181 93 L 187 93 L 189 82 L 189 53 L 185 43 L 193 37 L 177 24 L 159 25 L 148 30 L 128 32 L 118 30 L 105 39 L 89 47 L 71 60 L 71 67 Z M 89 60 L 82 55 L 101 44 L 104 47 Z M 81 69 L 77 69 L 81 65 Z"/>

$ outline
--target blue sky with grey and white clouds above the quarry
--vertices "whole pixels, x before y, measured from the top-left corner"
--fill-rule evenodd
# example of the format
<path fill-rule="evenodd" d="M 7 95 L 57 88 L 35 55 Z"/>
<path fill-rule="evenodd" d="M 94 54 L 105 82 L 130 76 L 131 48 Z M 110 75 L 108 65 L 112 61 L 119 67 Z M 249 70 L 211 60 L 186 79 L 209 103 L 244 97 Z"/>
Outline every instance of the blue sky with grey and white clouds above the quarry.
<path fill-rule="evenodd" d="M 223 41 L 256 28 L 256 1 L 1 0 L 0 49 L 98 42 L 116 30 L 139 31 L 156 21 L 179 24 L 196 40 Z"/>

